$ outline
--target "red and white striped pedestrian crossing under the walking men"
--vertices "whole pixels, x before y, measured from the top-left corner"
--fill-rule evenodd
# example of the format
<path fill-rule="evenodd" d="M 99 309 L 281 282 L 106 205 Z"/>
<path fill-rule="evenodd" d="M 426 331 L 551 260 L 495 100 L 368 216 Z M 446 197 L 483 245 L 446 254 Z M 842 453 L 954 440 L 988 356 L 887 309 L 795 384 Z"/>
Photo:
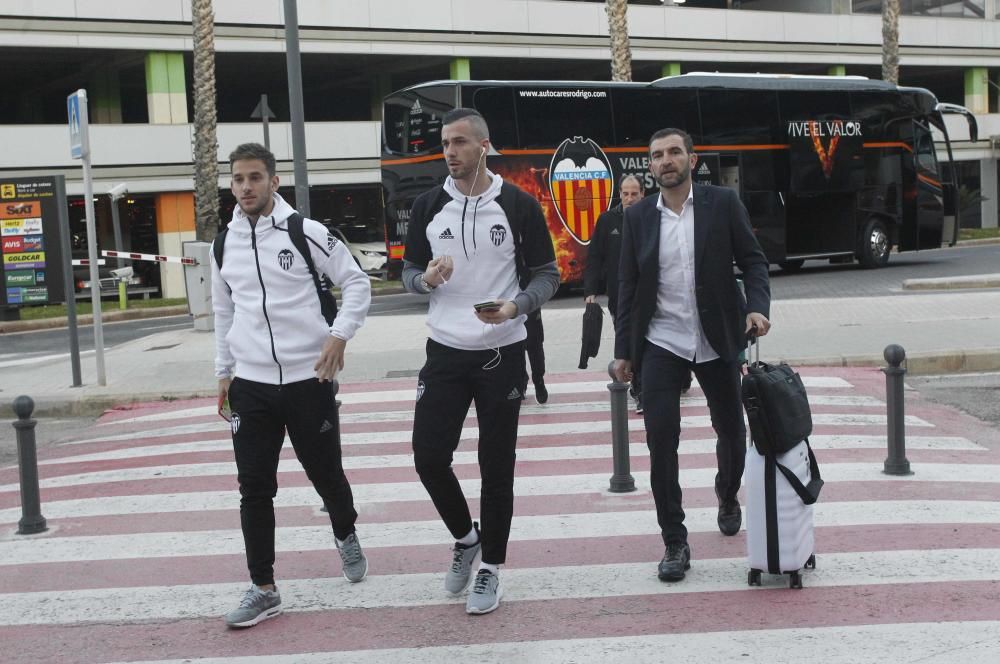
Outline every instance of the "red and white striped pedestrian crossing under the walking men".
<path fill-rule="evenodd" d="M 869 396 L 884 400 L 884 376 L 870 369 L 807 368 L 807 376 L 839 378 L 841 387 L 810 390 L 811 395 Z M 522 424 L 560 425 L 600 422 L 608 419 L 604 412 L 573 412 L 569 404 L 600 401 L 606 393 L 592 387 L 574 392 L 580 381 L 606 381 L 600 373 L 580 372 L 551 377 L 568 392 L 553 393 L 552 404 L 569 411 L 525 415 Z M 377 381 L 343 386 L 343 394 L 383 391 L 408 391 L 412 380 Z M 693 397 L 700 397 L 698 390 Z M 884 436 L 884 428 L 866 426 L 817 426 L 814 435 L 847 437 L 842 445 L 817 451 L 823 470 L 836 476 L 841 468 L 869 468 L 863 476 L 828 482 L 823 490 L 817 515 L 823 510 L 850 508 L 866 504 L 920 506 L 916 513 L 933 509 L 935 504 L 948 505 L 940 519 L 922 524 L 894 518 L 891 511 L 882 510 L 878 521 L 863 525 L 825 525 L 816 530 L 816 553 L 820 569 L 806 572 L 802 591 L 791 591 L 772 579 L 764 588 L 749 589 L 745 571 L 733 574 L 731 582 L 724 578 L 721 586 L 706 586 L 713 569 L 739 560 L 745 554 L 745 533 L 723 537 L 715 531 L 692 532 L 689 541 L 694 552 L 692 572 L 688 580 L 676 588 L 664 589 L 655 581 L 656 563 L 663 553 L 648 487 L 640 481 L 640 491 L 612 495 L 606 492 L 611 474 L 610 434 L 526 435 L 519 441 L 522 450 L 545 448 L 559 455 L 577 446 L 608 445 L 605 458 L 560 458 L 547 460 L 520 459 L 519 481 L 553 477 L 551 492 L 542 495 L 519 496 L 515 505 L 515 530 L 519 517 L 550 519 L 551 528 L 573 528 L 565 525 L 574 515 L 595 515 L 605 518 L 618 514 L 628 523 L 641 517 L 638 534 L 601 537 L 599 534 L 576 536 L 560 532 L 558 538 L 534 535 L 512 541 L 506 566 L 510 583 L 516 583 L 521 571 L 551 569 L 554 575 L 579 568 L 588 583 L 600 587 L 603 569 L 594 566 L 620 565 L 628 571 L 625 579 L 615 586 L 620 594 L 583 596 L 573 599 L 552 599 L 537 593 L 542 587 L 512 586 L 511 595 L 498 612 L 490 616 L 470 618 L 463 611 L 462 600 L 450 599 L 443 592 L 431 590 L 421 605 L 395 603 L 386 590 L 392 587 L 424 583 L 427 577 L 440 576 L 449 562 L 449 538 L 440 527 L 436 543 L 411 542 L 405 537 L 371 546 L 368 558 L 371 576 L 360 586 L 347 588 L 340 578 L 339 559 L 335 550 L 310 548 L 303 551 L 281 551 L 277 569 L 279 585 L 292 588 L 302 584 L 333 583 L 335 592 L 329 598 L 330 607 L 315 607 L 303 603 L 300 597 L 286 591 L 287 614 L 263 623 L 251 630 L 229 631 L 219 614 L 239 597 L 239 586 L 246 583 L 245 561 L 241 554 L 221 551 L 208 546 L 195 555 L 143 555 L 144 540 L 154 537 L 175 537 L 177 541 L 203 536 L 222 537 L 239 530 L 238 494 L 235 477 L 222 472 L 201 474 L 202 464 L 228 464 L 232 452 L 227 449 L 225 424 L 214 416 L 185 414 L 192 408 L 212 405 L 210 400 L 140 404 L 106 414 L 97 426 L 80 431 L 76 440 L 92 440 L 79 444 L 64 444 L 42 453 L 40 467 L 43 481 L 74 480 L 79 475 L 109 471 L 141 473 L 144 469 L 169 467 L 178 477 L 139 477 L 135 479 L 76 480 L 71 486 L 49 487 L 42 491 L 43 513 L 51 530 L 31 538 L 14 535 L 20 497 L 16 490 L 0 492 L 0 570 L 3 593 L 0 594 L 0 641 L 4 644 L 5 662 L 108 662 L 143 661 L 176 658 L 238 657 L 255 655 L 291 655 L 310 652 L 369 650 L 373 648 L 415 648 L 494 642 L 531 643 L 549 640 L 574 640 L 598 637 L 641 637 L 656 634 L 727 632 L 730 630 L 773 630 L 787 627 L 893 625 L 915 622 L 1000 621 L 1000 518 L 976 517 L 976 510 L 988 509 L 1000 503 L 1000 473 L 996 480 L 963 481 L 963 469 L 997 466 L 1000 468 L 1000 434 L 956 410 L 912 400 L 907 403 L 907 415 L 919 417 L 932 427 L 913 427 L 910 436 L 937 438 L 937 449 L 911 449 L 908 458 L 916 474 L 910 478 L 888 478 L 882 475 L 885 450 L 866 449 L 850 443 L 850 437 Z M 529 403 L 530 400 L 529 400 Z M 356 420 L 343 426 L 344 433 L 405 432 L 411 423 L 405 420 L 389 422 L 364 421 L 367 413 L 412 411 L 412 401 L 394 398 L 386 403 L 345 403 L 342 413 Z M 705 416 L 703 406 L 687 406 L 685 416 Z M 884 415 L 884 407 L 817 406 L 815 414 Z M 176 416 L 172 415 L 177 413 Z M 139 420 L 158 416 L 155 421 Z M 474 413 L 473 413 L 474 415 Z M 632 416 L 635 418 L 634 414 Z M 200 430 L 158 436 L 160 431 L 190 425 Z M 476 426 L 470 418 L 466 426 Z M 124 440 L 110 437 L 128 434 Z M 708 427 L 685 428 L 683 441 L 712 437 Z M 947 440 L 964 439 L 961 445 L 949 445 Z M 630 434 L 633 443 L 643 443 L 641 430 Z M 206 443 L 209 449 L 187 450 L 191 443 Z M 214 445 L 213 445 L 214 443 Z M 172 450 L 171 447 L 177 449 Z M 149 448 L 150 454 L 143 454 Z M 565 449 L 561 449 L 565 448 Z M 474 451 L 475 441 L 463 441 L 460 450 Z M 346 445 L 345 457 L 400 456 L 409 454 L 406 442 Z M 101 454 L 97 460 L 75 460 L 75 457 Z M 116 454 L 122 456 L 116 456 Z M 139 456 L 124 456 L 138 454 Z M 524 456 L 529 456 L 525 454 Z M 283 459 L 294 455 L 285 450 Z M 715 457 L 710 453 L 681 456 L 682 483 L 685 473 L 714 471 Z M 934 481 L 921 479 L 921 468 L 937 469 L 943 474 Z M 283 472 L 279 479 L 279 497 L 290 490 L 304 491 L 309 486 L 297 466 Z M 634 456 L 632 470 L 648 471 L 645 455 Z M 349 476 L 357 487 L 418 483 L 408 464 L 386 467 L 375 463 L 370 467 L 351 469 Z M 478 478 L 474 464 L 456 464 L 460 478 Z M 846 471 L 845 471 L 846 472 Z M 854 471 L 852 471 L 854 472 Z M 592 488 L 560 493 L 558 486 L 582 481 L 576 478 L 603 478 Z M 644 475 L 641 475 L 644 477 Z M 690 477 L 690 475 L 689 475 Z M 0 484 L 17 481 L 16 470 L 0 469 Z M 359 492 L 360 493 L 360 492 Z M 430 502 L 412 491 L 404 499 L 386 499 L 360 505 L 362 514 L 358 528 L 362 542 L 366 537 L 375 541 L 380 528 L 405 533 L 408 524 L 433 524 L 436 513 Z M 383 494 L 379 494 L 383 495 Z M 478 510 L 477 496 L 470 507 Z M 183 505 L 192 501 L 198 509 L 190 511 L 157 511 L 157 501 Z M 685 507 L 690 510 L 715 507 L 711 487 L 688 486 L 684 491 Z M 146 505 L 152 507 L 146 507 Z M 277 521 L 283 529 L 323 529 L 328 526 L 325 514 L 308 500 L 302 504 L 280 506 Z M 968 505 L 962 509 L 962 505 Z M 82 512 L 81 512 L 82 510 Z M 91 512 L 88 512 L 91 510 Z M 96 510 L 93 511 L 93 510 Z M 13 515 L 13 516 L 12 516 Z M 563 518 L 565 515 L 565 519 Z M 818 521 L 822 519 L 818 516 Z M 549 521 L 545 521 L 549 523 Z M 579 519 L 572 523 L 579 523 Z M 645 524 L 645 528 L 643 528 Z M 424 526 L 420 526 L 424 528 Z M 644 530 L 644 532 L 642 532 Z M 290 531 L 282 531 L 290 532 Z M 423 532 L 423 531 L 421 531 Z M 533 531 L 534 532 L 534 531 Z M 109 540 L 107 538 L 120 538 Z M 102 542 L 119 542 L 116 546 L 130 547 L 135 555 L 121 560 L 102 558 Z M 39 563 L 33 556 L 57 551 L 75 551 L 77 542 L 86 542 L 82 553 L 70 556 L 76 562 Z M 973 553 L 982 564 L 956 567 L 953 581 L 940 581 L 936 575 L 902 579 L 893 576 L 887 583 L 873 582 L 878 568 L 869 569 L 870 556 L 895 556 L 910 559 L 910 552 L 924 555 L 957 556 Z M 918 554 L 919 557 L 920 554 Z M 824 568 L 823 561 L 834 561 Z M 740 565 L 736 566 L 740 568 Z M 597 570 L 597 571 L 595 571 Z M 608 572 L 610 574 L 610 572 Z M 886 572 L 888 573 L 888 572 Z M 594 575 L 597 574 L 596 577 Z M 810 587 L 810 574 L 816 584 Z M 838 578 L 834 578 L 834 574 Z M 629 576 L 631 575 L 631 576 Z M 706 576 L 708 575 L 708 576 Z M 825 575 L 825 576 L 824 576 Z M 532 577 L 534 578 L 534 577 Z M 544 574 L 541 577 L 544 579 Z M 561 577 L 560 577 L 561 578 Z M 582 578 L 582 577 L 581 577 Z M 611 581 L 608 581 L 611 583 Z M 437 581 L 433 587 L 437 587 Z M 687 584 L 687 585 L 685 585 Z M 177 606 L 187 604 L 179 618 L 166 607 L 149 607 L 143 597 L 175 586 L 184 586 L 176 599 Z M 207 596 L 199 588 L 221 586 L 217 596 L 212 590 Z M 340 589 L 340 590 L 336 590 Z M 669 590 L 669 594 L 663 594 Z M 86 599 L 87 593 L 103 593 L 103 599 Z M 371 608 L 333 608 L 338 593 L 344 598 L 364 597 L 375 604 Z M 546 591 L 547 592 L 547 591 Z M 192 599 L 187 599 L 190 593 Z M 169 593 L 168 593 L 169 594 Z M 543 593 L 544 594 L 544 593 Z M 96 597 L 96 596 L 95 596 Z M 92 612 L 80 614 L 73 602 L 92 602 Z M 198 600 L 194 598 L 200 598 Z M 174 599 L 170 600 L 171 602 Z M 191 606 L 191 602 L 196 605 Z M 347 601 L 345 599 L 344 601 Z M 212 603 L 202 609 L 198 602 Z M 214 603 L 213 603 L 214 602 Z M 106 618 L 108 606 L 136 607 L 122 618 Z M 217 609 L 222 607 L 221 609 Z M 23 615 L 41 616 L 26 624 Z M 173 606 L 173 605 L 171 605 Z M 32 607 L 39 609 L 37 614 Z M 721 635 L 720 635 L 720 638 Z M 294 661 L 294 657 L 291 660 Z M 623 660 L 624 661 L 624 660 Z M 705 659 L 710 661 L 710 658 Z"/>

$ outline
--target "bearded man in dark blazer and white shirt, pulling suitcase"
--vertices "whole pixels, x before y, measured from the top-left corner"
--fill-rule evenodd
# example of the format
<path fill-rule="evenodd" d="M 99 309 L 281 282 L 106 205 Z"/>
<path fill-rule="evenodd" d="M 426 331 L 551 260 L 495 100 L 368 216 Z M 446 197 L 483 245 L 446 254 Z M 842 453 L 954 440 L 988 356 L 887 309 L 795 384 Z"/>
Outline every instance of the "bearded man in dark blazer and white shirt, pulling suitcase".
<path fill-rule="evenodd" d="M 658 574 L 679 581 L 691 566 L 677 464 L 683 380 L 693 370 L 708 401 L 718 436 L 719 529 L 735 535 L 746 453 L 739 354 L 751 328 L 759 336 L 770 329 L 771 292 L 767 258 L 737 194 L 692 184 L 691 137 L 661 129 L 650 138 L 649 160 L 660 194 L 625 212 L 614 370 L 628 382 L 641 368 L 650 484 L 666 545 Z"/>

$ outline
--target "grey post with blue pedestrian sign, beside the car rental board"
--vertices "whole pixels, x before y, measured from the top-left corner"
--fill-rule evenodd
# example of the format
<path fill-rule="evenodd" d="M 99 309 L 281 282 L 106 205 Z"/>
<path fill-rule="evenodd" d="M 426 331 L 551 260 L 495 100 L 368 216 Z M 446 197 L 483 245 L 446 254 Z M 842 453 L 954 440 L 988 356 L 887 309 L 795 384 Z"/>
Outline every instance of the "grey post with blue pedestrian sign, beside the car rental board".
<path fill-rule="evenodd" d="M 101 326 L 101 278 L 97 269 L 97 231 L 94 223 L 94 183 L 90 177 L 90 140 L 87 122 L 87 91 L 80 89 L 66 98 L 69 115 L 69 153 L 83 165 L 83 201 L 87 211 L 87 255 L 90 258 L 90 302 L 94 314 L 94 354 L 97 384 L 107 385 L 104 375 L 104 328 Z M 97 287 L 94 287 L 97 284 Z"/>

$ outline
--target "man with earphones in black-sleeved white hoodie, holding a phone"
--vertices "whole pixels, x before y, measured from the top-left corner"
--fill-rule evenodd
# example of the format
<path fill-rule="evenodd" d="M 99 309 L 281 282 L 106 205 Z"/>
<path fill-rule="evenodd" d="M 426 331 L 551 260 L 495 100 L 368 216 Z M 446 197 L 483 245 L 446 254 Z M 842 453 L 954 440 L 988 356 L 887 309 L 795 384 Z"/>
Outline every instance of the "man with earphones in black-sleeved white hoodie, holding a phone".
<path fill-rule="evenodd" d="M 527 386 L 524 320 L 555 293 L 559 270 L 538 201 L 486 167 L 483 117 L 464 108 L 445 114 L 441 145 L 449 177 L 414 201 L 404 255 L 406 289 L 430 293 L 413 457 L 456 540 L 445 589 L 461 593 L 475 576 L 465 608 L 481 614 L 495 610 L 503 595 L 499 566 L 510 537 L 517 421 Z M 451 467 L 473 401 L 482 531 Z"/>

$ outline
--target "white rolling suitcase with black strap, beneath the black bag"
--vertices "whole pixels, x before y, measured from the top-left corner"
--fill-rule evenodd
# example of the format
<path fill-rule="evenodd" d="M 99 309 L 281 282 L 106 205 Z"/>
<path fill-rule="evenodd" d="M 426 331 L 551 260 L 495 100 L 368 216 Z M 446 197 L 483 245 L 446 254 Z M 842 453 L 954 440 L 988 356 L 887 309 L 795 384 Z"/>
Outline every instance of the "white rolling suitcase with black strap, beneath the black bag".
<path fill-rule="evenodd" d="M 798 480 L 799 490 L 779 464 Z M 816 567 L 812 503 L 822 485 L 809 441 L 803 440 L 788 452 L 773 456 L 763 456 L 751 445 L 747 448 L 744 477 L 750 563 L 747 583 L 759 586 L 761 574 L 768 572 L 788 574 L 789 585 L 801 588 L 802 568 Z"/>

